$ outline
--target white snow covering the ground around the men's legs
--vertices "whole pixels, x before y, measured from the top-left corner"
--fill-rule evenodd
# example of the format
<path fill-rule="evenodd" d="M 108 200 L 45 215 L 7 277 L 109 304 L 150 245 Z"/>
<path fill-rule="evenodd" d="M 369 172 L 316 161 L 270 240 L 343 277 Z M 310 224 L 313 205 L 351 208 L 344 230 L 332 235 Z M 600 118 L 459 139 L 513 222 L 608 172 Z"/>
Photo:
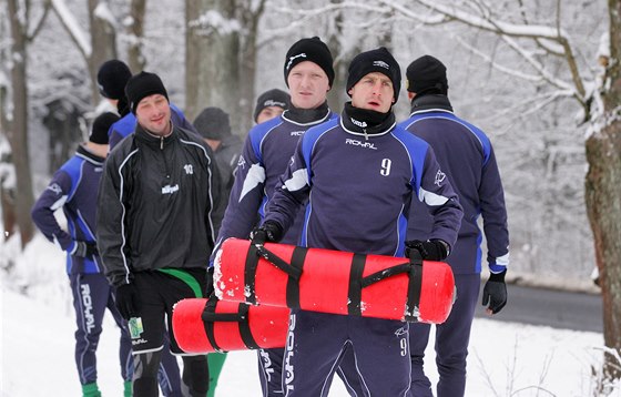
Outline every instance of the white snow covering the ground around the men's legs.
<path fill-rule="evenodd" d="M 6 271 L 11 266 L 12 271 Z M 23 254 L 0 243 L 0 396 L 79 396 L 73 364 L 73 311 L 64 255 L 38 235 Z M 99 384 L 121 396 L 119 330 L 106 315 L 99 346 Z M 598 333 L 475 320 L 468 358 L 467 396 L 593 396 L 603 337 Z M 429 348 L 427 357 L 432 357 Z M 429 359 L 427 371 L 437 380 Z M 216 396 L 259 396 L 254 352 L 228 354 Z M 336 379 L 330 396 L 347 396 Z M 621 397 L 621 387 L 610 396 Z M 384 397 L 384 396 L 383 396 Z M 389 396 L 388 396 L 389 397 Z"/>

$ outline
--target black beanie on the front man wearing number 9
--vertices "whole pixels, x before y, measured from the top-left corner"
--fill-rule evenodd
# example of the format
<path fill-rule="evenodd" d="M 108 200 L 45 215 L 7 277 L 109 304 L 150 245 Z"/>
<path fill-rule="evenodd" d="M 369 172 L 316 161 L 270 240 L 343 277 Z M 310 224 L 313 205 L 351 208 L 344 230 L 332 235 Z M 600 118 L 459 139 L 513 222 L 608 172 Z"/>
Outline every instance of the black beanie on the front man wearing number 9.
<path fill-rule="evenodd" d="M 345 91 L 349 93 L 352 86 L 356 85 L 362 78 L 368 73 L 378 72 L 385 74 L 393 82 L 395 91 L 395 103 L 399 99 L 401 86 L 401 69 L 399 63 L 385 47 L 357 54 L 349 63 L 349 75 Z"/>

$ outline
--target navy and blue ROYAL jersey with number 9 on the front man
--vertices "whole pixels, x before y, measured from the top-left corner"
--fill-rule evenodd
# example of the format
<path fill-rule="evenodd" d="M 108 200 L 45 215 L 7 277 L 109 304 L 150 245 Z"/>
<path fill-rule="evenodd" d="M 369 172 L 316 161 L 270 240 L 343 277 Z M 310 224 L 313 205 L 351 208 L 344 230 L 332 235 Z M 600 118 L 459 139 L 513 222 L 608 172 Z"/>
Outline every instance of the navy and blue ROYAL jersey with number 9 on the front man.
<path fill-rule="evenodd" d="M 344 112 L 306 132 L 266 220 L 287 230 L 304 207 L 303 246 L 403 256 L 410 203 L 419 200 L 435 215 L 427 238 L 455 244 L 461 208 L 431 147 L 393 114 L 373 133 L 357 125 Z"/>

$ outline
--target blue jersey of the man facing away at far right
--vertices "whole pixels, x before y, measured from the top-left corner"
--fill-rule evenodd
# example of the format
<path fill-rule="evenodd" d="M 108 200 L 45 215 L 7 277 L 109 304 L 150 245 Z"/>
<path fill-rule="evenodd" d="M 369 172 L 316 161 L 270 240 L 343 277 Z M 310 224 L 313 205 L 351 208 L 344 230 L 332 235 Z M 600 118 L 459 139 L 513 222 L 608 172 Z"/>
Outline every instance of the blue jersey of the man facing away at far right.
<path fill-rule="evenodd" d="M 449 176 L 464 207 L 459 237 L 447 262 L 456 274 L 481 272 L 482 235 L 477 224 L 482 215 L 488 264 L 493 273 L 509 264 L 509 232 L 500 173 L 488 136 L 459 119 L 446 95 L 425 95 L 413 102 L 411 116 L 399 124 L 428 142 Z M 408 240 L 426 238 L 432 217 L 413 205 Z"/>

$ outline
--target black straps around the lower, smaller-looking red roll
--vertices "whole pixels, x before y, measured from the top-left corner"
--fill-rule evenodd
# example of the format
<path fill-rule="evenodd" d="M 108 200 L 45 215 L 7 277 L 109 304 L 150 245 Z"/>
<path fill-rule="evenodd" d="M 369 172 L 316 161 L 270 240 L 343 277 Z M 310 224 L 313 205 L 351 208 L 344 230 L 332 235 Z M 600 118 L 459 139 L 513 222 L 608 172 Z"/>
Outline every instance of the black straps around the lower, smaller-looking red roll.
<path fill-rule="evenodd" d="M 218 299 L 215 296 L 212 296 L 207 304 L 205 305 L 205 309 L 203 311 L 202 319 L 203 324 L 205 325 L 205 334 L 207 335 L 207 339 L 210 344 L 216 352 L 223 352 L 221 347 L 215 342 L 214 336 L 214 323 L 215 322 L 232 322 L 237 323 L 240 327 L 240 335 L 242 336 L 242 340 L 244 345 L 248 349 L 258 349 L 261 346 L 256 344 L 254 337 L 252 336 L 251 325 L 248 322 L 248 309 L 250 306 L 246 304 L 241 303 L 237 308 L 237 313 L 215 313 L 215 308 L 217 307 Z"/>

